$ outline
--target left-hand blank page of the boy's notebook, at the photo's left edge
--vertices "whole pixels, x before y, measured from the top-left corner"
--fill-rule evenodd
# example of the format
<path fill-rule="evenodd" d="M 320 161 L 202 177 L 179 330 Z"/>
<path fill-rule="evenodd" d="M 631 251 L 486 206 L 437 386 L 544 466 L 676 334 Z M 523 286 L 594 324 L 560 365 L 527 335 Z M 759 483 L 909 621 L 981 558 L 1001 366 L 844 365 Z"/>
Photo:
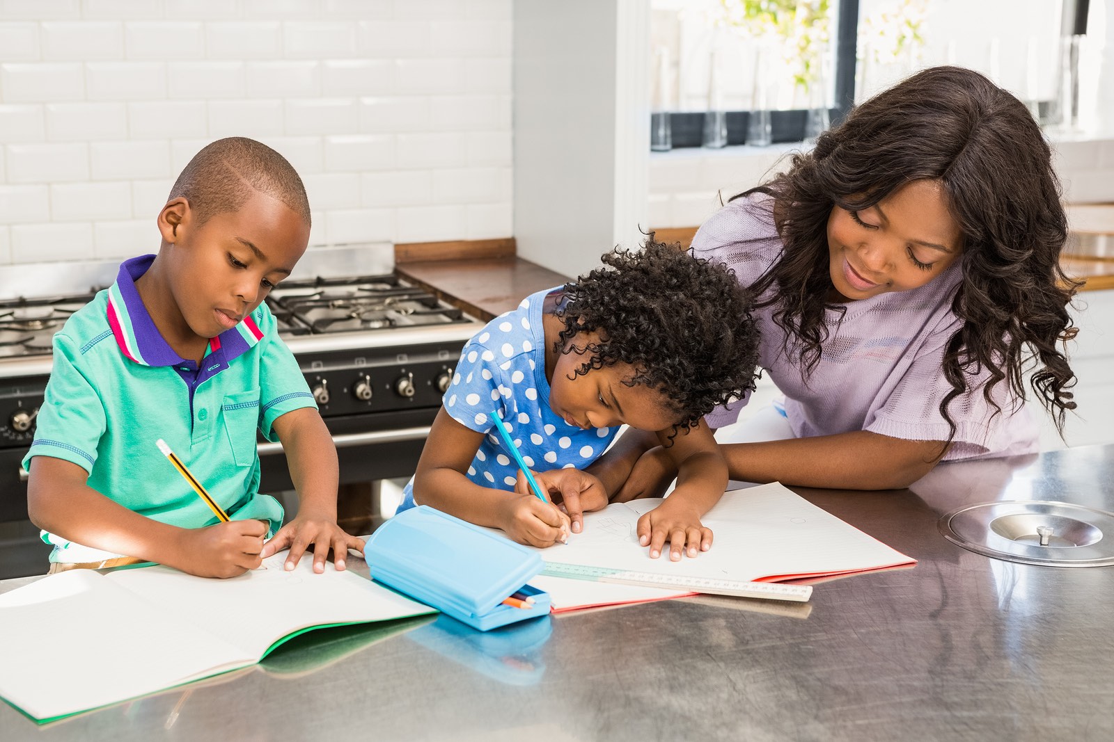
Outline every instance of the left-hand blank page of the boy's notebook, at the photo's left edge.
<path fill-rule="evenodd" d="M 255 661 L 90 570 L 51 575 L 0 595 L 0 695 L 39 719 Z"/>

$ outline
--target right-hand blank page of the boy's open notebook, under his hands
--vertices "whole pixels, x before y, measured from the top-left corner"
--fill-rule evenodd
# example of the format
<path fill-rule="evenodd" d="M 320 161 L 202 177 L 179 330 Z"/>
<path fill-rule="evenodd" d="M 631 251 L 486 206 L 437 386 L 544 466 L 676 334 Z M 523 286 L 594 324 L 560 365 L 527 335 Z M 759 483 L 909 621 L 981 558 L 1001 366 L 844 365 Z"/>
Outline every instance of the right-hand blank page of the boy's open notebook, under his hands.
<path fill-rule="evenodd" d="M 253 661 L 267 647 L 300 629 L 334 623 L 389 621 L 434 610 L 393 593 L 332 564 L 313 572 L 305 554 L 293 571 L 283 570 L 286 552 L 229 580 L 209 580 L 166 566 L 126 570 L 106 575 L 152 605 L 183 621 L 203 625 Z"/>

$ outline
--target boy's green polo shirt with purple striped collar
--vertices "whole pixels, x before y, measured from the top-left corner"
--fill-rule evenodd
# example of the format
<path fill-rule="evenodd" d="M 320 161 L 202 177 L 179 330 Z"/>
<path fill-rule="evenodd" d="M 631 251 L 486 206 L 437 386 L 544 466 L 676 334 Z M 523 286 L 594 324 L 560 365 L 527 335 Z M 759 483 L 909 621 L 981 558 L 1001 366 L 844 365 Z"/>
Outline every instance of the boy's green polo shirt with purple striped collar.
<path fill-rule="evenodd" d="M 217 522 L 156 445 L 162 438 L 233 520 L 282 524 L 278 502 L 258 493 L 256 431 L 315 406 L 297 362 L 261 305 L 209 342 L 201 366 L 163 339 L 135 281 L 154 256 L 127 260 L 116 283 L 76 311 L 53 339 L 53 368 L 39 410 L 33 456 L 72 462 L 88 485 L 155 521 L 186 528 Z M 51 562 L 114 556 L 43 532 Z"/>

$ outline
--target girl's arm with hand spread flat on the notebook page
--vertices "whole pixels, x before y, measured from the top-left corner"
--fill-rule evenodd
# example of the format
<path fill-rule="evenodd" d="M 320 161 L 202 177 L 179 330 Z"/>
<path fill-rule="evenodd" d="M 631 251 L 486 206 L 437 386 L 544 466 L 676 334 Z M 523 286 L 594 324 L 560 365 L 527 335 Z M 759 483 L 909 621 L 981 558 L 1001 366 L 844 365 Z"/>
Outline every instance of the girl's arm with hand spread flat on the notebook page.
<path fill-rule="evenodd" d="M 637 533 L 638 543 L 648 545 L 654 558 L 668 541 L 670 558 L 676 562 L 682 552 L 696 556 L 697 550 L 712 547 L 712 531 L 700 520 L 727 487 L 727 463 L 703 421 L 678 429 L 672 444 L 670 434 L 662 431 L 657 437 L 677 468 L 677 486 L 662 505 L 638 518 Z"/>

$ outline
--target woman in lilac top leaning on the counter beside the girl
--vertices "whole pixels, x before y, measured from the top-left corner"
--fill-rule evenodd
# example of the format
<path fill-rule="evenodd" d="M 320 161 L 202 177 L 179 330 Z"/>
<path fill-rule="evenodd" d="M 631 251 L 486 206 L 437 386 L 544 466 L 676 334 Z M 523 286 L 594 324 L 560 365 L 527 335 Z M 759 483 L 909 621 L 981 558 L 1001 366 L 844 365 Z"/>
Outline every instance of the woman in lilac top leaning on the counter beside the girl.
<path fill-rule="evenodd" d="M 1057 348 L 1076 332 L 1066 231 L 1033 117 L 956 67 L 868 100 L 733 198 L 693 251 L 754 293 L 759 365 L 785 402 L 782 439 L 723 447 L 732 478 L 899 488 L 940 461 L 1034 452 L 1028 368 L 1063 434 L 1075 408 Z M 734 422 L 742 404 L 706 423 Z M 626 437 L 606 462 L 634 467 L 617 498 L 656 494 L 671 463 Z"/>

